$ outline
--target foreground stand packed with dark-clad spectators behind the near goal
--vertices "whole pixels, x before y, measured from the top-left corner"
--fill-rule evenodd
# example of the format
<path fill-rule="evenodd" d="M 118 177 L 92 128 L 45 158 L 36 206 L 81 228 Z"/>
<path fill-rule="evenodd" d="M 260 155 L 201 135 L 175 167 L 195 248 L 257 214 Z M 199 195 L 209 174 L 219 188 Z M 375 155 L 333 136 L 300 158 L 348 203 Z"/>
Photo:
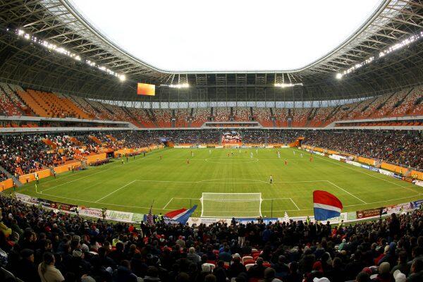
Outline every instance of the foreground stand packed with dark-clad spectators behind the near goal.
<path fill-rule="evenodd" d="M 422 210 L 348 226 L 190 227 L 92 221 L 3 195 L 0 207 L 2 262 L 23 281 L 45 281 L 49 268 L 56 281 L 393 282 L 396 269 L 403 281 L 423 279 Z"/>

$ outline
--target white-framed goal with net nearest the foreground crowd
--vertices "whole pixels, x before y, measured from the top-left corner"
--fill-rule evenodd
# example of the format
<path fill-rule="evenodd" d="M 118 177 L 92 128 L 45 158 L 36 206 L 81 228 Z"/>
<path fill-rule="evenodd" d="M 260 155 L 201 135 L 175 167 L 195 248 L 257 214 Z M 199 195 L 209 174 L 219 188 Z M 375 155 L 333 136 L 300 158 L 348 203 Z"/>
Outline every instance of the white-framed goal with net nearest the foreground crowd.
<path fill-rule="evenodd" d="M 202 193 L 202 217 L 262 216 L 262 193 Z"/>

